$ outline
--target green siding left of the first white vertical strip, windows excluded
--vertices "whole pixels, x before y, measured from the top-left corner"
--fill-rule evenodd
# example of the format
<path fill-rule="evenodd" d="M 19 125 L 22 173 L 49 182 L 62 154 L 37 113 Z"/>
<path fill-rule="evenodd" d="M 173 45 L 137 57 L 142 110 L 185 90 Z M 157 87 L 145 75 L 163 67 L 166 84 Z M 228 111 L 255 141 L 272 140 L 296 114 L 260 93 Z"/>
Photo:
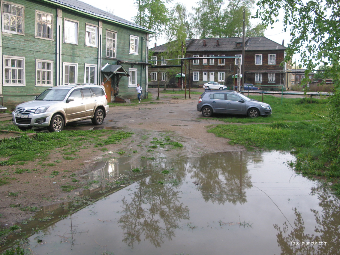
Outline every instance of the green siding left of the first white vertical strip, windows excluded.
<path fill-rule="evenodd" d="M 56 68 L 56 9 L 51 5 L 40 5 L 35 1 L 9 1 L 13 4 L 24 5 L 24 35 L 2 33 L 2 54 L 25 57 L 25 84 L 26 86 L 3 86 L 3 104 L 16 105 L 21 102 L 33 100 L 47 87 L 35 86 L 35 60 L 54 61 Z M 35 11 L 53 15 L 53 40 L 35 38 Z M 1 56 L 1 63 L 3 57 Z M 1 68 L 2 69 L 2 68 Z M 2 71 L 2 70 L 1 70 Z M 55 84 L 55 81 L 53 81 Z"/>

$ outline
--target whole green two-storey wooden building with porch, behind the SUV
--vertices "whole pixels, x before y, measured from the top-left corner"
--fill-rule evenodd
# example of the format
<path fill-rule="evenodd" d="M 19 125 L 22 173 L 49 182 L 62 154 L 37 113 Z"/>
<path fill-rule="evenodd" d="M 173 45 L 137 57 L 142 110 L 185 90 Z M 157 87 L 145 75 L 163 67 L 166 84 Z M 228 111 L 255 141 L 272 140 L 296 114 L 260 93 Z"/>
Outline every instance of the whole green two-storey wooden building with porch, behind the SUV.
<path fill-rule="evenodd" d="M 78 0 L 1 0 L 1 24 L 4 106 L 66 83 L 105 82 L 109 101 L 147 87 L 153 32 L 135 23 Z"/>

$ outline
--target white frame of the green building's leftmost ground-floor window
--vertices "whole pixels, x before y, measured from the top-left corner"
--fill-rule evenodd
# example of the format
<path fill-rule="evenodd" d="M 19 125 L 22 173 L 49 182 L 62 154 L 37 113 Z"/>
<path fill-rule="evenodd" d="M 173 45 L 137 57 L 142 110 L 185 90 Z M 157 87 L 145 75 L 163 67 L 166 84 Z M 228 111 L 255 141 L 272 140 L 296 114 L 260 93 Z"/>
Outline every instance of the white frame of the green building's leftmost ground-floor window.
<path fill-rule="evenodd" d="M 10 60 L 11 63 L 12 63 L 12 60 L 21 60 L 22 61 L 22 67 L 12 67 L 12 64 L 11 66 L 6 66 L 6 60 Z M 12 80 L 13 79 L 8 79 L 10 80 L 11 82 L 9 83 L 6 83 L 6 70 L 8 70 L 10 72 L 10 77 L 12 77 L 12 73 L 15 72 L 15 75 L 16 75 L 16 82 L 12 83 Z M 18 83 L 18 70 L 22 70 L 22 80 L 23 80 L 23 83 Z M 25 80 L 25 77 L 26 77 L 26 74 L 25 74 L 25 57 L 18 57 L 18 56 L 8 56 L 8 55 L 3 55 L 2 56 L 2 77 L 3 77 L 3 86 L 18 86 L 18 87 L 23 87 L 23 86 L 26 86 L 26 80 Z"/>

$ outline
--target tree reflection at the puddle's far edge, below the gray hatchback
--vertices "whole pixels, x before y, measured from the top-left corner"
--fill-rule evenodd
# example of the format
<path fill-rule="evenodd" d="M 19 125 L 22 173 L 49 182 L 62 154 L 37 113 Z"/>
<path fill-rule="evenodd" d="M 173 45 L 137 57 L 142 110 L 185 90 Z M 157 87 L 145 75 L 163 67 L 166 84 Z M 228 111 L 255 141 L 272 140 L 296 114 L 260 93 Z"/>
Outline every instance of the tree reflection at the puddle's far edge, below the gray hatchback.
<path fill-rule="evenodd" d="M 193 161 L 189 172 L 200 184 L 205 201 L 224 204 L 245 203 L 245 189 L 252 187 L 242 152 L 209 154 Z"/>

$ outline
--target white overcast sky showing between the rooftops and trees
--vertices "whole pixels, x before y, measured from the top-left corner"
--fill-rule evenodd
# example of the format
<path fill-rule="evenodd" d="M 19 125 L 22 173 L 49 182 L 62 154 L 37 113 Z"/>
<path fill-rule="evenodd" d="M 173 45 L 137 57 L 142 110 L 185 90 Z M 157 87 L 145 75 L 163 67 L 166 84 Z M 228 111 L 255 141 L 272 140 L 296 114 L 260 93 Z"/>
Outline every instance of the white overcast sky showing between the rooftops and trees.
<path fill-rule="evenodd" d="M 85 3 L 88 3 L 92 6 L 100 8 L 101 10 L 113 11 L 113 14 L 121 17 L 123 19 L 133 21 L 133 17 L 137 15 L 137 8 L 134 6 L 135 0 L 123 0 L 123 1 L 107 1 L 107 0 L 81 0 Z M 176 2 L 184 3 L 187 12 L 193 12 L 192 6 L 196 6 L 199 0 L 177 0 Z M 283 26 L 280 23 L 274 24 L 274 29 L 268 29 L 265 31 L 265 37 L 275 41 L 278 44 L 282 44 L 282 41 L 285 40 L 284 46 L 287 46 L 290 40 L 289 32 L 283 31 Z M 152 48 L 154 44 L 162 45 L 166 43 L 166 40 L 163 38 L 158 38 L 157 40 L 151 39 L 149 48 Z"/>

